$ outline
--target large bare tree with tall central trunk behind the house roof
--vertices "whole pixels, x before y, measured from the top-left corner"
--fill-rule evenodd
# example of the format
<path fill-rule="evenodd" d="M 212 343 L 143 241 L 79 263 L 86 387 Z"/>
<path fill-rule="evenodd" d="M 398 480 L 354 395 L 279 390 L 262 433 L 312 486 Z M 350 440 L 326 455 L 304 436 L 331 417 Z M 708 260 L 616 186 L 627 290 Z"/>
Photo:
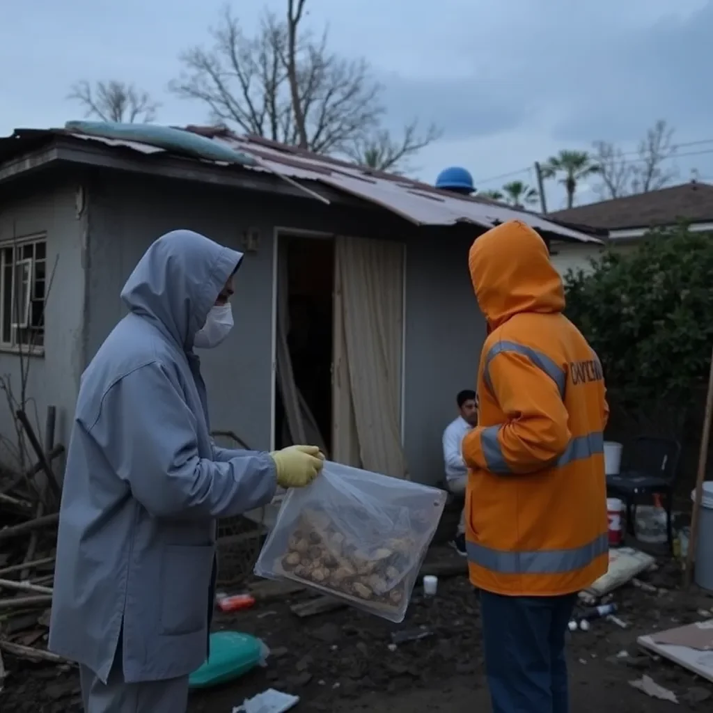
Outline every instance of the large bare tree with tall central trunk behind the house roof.
<path fill-rule="evenodd" d="M 419 135 L 416 123 L 406 126 L 402 140 L 381 128 L 382 88 L 368 63 L 330 51 L 327 30 L 319 36 L 303 30 L 306 6 L 307 0 L 287 0 L 284 19 L 266 13 L 254 37 L 225 8 L 210 30 L 210 47 L 181 55 L 183 72 L 170 91 L 201 101 L 211 120 L 245 133 L 352 158 L 360 148 L 374 149 L 382 168 L 437 138 L 435 128 Z"/>

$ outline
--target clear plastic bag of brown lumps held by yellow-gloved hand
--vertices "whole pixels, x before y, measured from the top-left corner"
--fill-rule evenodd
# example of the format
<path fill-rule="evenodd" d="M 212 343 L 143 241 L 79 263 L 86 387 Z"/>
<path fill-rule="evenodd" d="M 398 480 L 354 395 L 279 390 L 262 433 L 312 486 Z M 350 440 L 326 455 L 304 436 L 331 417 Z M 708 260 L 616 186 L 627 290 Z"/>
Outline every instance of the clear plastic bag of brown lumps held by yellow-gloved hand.
<path fill-rule="evenodd" d="M 327 461 L 287 493 L 255 574 L 401 622 L 445 504 L 438 488 Z"/>

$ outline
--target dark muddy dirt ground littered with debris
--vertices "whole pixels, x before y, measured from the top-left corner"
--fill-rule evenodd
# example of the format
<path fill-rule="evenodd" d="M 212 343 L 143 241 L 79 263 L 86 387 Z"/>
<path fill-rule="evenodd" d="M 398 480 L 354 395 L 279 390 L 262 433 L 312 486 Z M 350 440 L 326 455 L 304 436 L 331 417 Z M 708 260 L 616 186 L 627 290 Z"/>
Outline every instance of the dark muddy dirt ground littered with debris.
<path fill-rule="evenodd" d="M 699 620 L 701 610 L 712 609 L 713 597 L 679 590 L 680 575 L 673 563 L 645 579 L 667 591 L 618 590 L 619 616 L 629 628 L 622 630 L 612 622 L 597 620 L 590 631 L 571 635 L 573 712 L 711 709 L 713 684 L 642 654 L 636 637 Z M 401 625 L 350 609 L 299 618 L 289 610 L 298 599 L 262 602 L 252 610 L 217 616 L 217 628 L 257 635 L 272 655 L 267 667 L 237 682 L 192 694 L 190 713 L 231 713 L 243 699 L 269 687 L 299 695 L 301 702 L 294 710 L 300 713 L 490 711 L 478 601 L 465 576 L 441 580 L 432 600 L 424 600 L 416 592 Z M 399 630 L 421 630 L 429 636 L 394 647 L 391 635 Z M 5 662 L 9 676 L 0 694 L 2 713 L 80 710 L 73 670 L 33 667 L 8 655 Z M 642 674 L 677 694 L 679 704 L 652 699 L 632 688 L 629 682 Z"/>

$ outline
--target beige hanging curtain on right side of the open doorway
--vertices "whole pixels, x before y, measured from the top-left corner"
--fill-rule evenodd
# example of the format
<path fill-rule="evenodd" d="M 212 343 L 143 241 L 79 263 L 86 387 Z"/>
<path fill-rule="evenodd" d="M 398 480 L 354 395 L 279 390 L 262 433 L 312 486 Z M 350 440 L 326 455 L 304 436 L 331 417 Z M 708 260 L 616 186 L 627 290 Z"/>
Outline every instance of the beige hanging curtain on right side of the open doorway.
<path fill-rule="evenodd" d="M 404 245 L 340 236 L 335 272 L 344 337 L 335 378 L 348 376 L 349 386 L 339 384 L 342 411 L 335 414 L 337 426 L 343 431 L 353 426 L 366 470 L 408 478 L 401 447 Z M 335 342 L 339 338 L 336 334 Z M 350 398 L 342 391 L 349 391 Z M 337 398 L 334 403 L 339 406 Z"/>

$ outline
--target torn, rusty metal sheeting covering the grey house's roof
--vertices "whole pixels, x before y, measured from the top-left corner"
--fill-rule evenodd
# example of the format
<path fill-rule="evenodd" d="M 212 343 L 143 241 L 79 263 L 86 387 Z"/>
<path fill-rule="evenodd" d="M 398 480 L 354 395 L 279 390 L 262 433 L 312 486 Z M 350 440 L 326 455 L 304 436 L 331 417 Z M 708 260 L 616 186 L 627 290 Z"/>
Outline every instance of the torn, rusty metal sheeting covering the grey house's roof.
<path fill-rule="evenodd" d="M 67 133 L 75 138 L 96 140 L 113 146 L 132 148 L 142 153 L 163 153 L 162 148 L 133 140 L 117 140 L 92 132 L 73 130 L 81 123 L 69 123 Z M 158 127 L 157 127 L 158 128 Z M 403 176 L 370 170 L 307 150 L 277 143 L 257 136 L 240 136 L 225 127 L 188 126 L 186 131 L 227 145 L 232 150 L 252 157 L 257 165 L 245 170 L 264 170 L 297 181 L 316 181 L 384 207 L 416 225 L 455 225 L 469 222 L 486 229 L 508 220 L 522 220 L 531 227 L 556 235 L 560 240 L 600 243 L 597 237 L 573 230 L 538 214 L 516 210 L 483 198 L 453 195 L 426 183 Z M 143 148 L 145 146 L 145 148 Z M 227 165 L 225 161 L 215 163 Z"/>

